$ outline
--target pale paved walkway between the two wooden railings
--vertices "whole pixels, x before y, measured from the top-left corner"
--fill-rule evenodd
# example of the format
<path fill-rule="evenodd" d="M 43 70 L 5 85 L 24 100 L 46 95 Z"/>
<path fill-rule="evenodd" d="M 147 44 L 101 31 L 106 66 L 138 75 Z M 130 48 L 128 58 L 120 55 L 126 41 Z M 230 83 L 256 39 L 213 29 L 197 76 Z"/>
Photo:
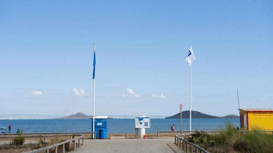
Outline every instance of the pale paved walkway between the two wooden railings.
<path fill-rule="evenodd" d="M 71 153 L 185 153 L 175 144 L 174 139 L 96 139 L 84 140 L 84 145 Z"/>

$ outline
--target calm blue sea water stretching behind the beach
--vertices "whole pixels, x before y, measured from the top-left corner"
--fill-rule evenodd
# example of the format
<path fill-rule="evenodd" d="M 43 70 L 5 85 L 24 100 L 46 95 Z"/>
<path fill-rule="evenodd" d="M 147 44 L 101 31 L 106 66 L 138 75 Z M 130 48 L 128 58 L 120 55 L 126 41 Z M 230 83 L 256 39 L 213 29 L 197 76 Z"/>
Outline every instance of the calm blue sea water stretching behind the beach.
<path fill-rule="evenodd" d="M 189 130 L 190 119 L 182 119 L 182 130 Z M 239 127 L 239 119 L 192 119 L 192 130 L 217 130 L 230 122 Z M 91 131 L 91 119 L 43 119 L 43 120 L 0 120 L 0 126 L 12 124 L 12 133 L 24 129 L 25 133 L 44 132 L 88 132 Z M 180 130 L 180 119 L 151 119 L 151 128 L 146 133 L 169 131 L 174 124 Z M 8 132 L 7 130 L 0 130 Z M 108 119 L 108 133 L 135 133 L 135 119 Z"/>

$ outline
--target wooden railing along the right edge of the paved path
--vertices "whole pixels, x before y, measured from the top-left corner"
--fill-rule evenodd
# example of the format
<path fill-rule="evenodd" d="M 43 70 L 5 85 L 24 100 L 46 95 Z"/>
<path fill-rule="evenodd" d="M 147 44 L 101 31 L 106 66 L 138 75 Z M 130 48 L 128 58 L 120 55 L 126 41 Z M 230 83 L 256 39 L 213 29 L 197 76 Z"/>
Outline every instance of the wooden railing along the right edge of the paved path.
<path fill-rule="evenodd" d="M 183 138 L 181 138 L 183 136 Z M 185 134 L 181 134 L 181 135 L 176 135 L 174 137 L 174 144 L 177 145 L 177 147 L 185 150 L 186 149 L 186 153 L 209 153 L 208 151 L 206 151 L 205 149 L 199 147 L 196 144 L 190 143 L 187 140 L 185 140 L 186 135 Z M 179 142 L 178 142 L 179 140 Z"/>

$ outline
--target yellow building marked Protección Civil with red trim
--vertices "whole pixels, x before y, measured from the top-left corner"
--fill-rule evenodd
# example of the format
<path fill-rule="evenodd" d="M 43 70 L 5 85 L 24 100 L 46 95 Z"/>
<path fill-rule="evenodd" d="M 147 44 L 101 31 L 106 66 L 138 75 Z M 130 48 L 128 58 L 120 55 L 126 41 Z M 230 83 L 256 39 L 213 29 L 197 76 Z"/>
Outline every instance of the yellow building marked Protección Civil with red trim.
<path fill-rule="evenodd" d="M 273 109 L 239 109 L 241 130 L 273 130 Z"/>

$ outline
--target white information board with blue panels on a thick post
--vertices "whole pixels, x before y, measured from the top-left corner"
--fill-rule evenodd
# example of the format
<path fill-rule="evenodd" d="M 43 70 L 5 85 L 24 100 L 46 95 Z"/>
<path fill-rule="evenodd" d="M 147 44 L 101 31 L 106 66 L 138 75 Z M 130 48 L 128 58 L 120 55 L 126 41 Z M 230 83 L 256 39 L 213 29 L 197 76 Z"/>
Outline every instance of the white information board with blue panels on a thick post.
<path fill-rule="evenodd" d="M 145 139 L 145 128 L 150 128 L 150 117 L 140 115 L 135 118 L 136 128 L 140 128 L 140 138 Z"/>

